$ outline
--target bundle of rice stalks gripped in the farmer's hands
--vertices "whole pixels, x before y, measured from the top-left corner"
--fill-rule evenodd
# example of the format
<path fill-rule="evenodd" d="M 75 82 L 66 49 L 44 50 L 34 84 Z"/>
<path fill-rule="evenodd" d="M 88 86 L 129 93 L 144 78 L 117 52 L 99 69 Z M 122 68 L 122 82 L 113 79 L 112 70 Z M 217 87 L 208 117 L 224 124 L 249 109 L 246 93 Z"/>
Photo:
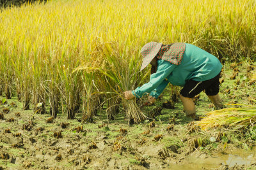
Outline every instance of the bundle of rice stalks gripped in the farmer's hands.
<path fill-rule="evenodd" d="M 128 62 L 125 61 L 125 56 L 120 55 L 116 43 L 103 43 L 101 47 L 103 56 L 108 63 L 108 67 L 103 73 L 116 84 L 115 89 L 113 89 L 113 87 L 111 87 L 111 89 L 113 89 L 116 96 L 122 100 L 122 105 L 128 118 L 128 124 L 132 122 L 138 124 L 147 117 L 142 113 L 135 99 L 127 101 L 122 96 L 122 92 L 134 89 L 134 86 L 138 83 L 136 78 L 138 78 L 140 64 L 134 64 L 133 59 L 135 59 L 135 56 L 133 58 L 131 57 Z"/>

